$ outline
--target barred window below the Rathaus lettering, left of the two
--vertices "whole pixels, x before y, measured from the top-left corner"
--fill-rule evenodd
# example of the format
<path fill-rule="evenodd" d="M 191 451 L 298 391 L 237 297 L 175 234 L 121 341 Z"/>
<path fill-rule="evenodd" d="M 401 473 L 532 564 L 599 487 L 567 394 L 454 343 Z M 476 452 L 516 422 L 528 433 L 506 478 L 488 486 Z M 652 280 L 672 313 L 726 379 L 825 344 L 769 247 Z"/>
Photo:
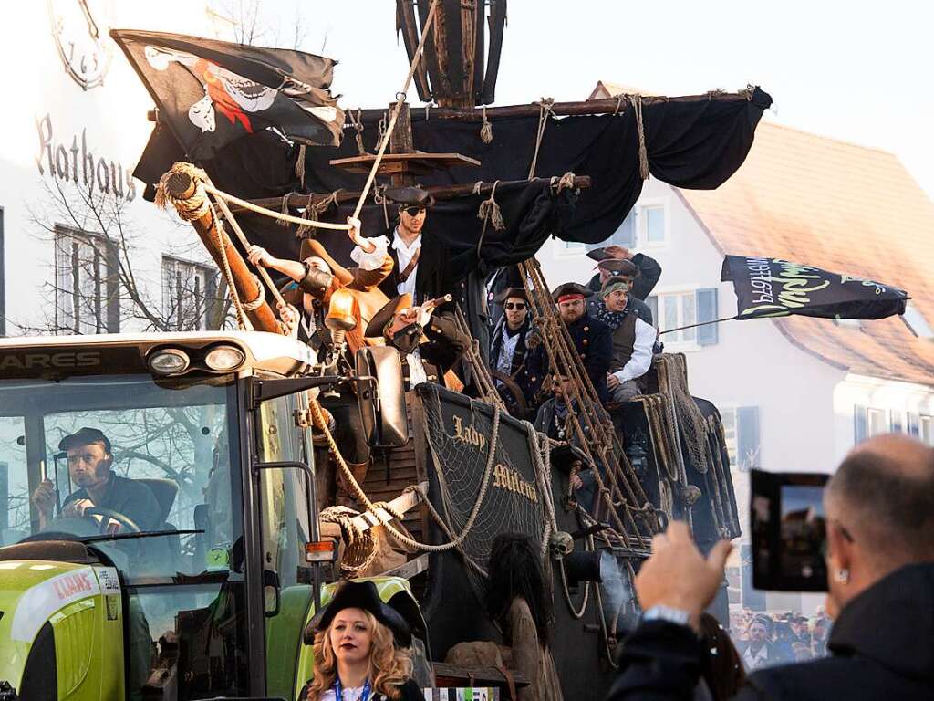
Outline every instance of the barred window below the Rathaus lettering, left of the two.
<path fill-rule="evenodd" d="M 117 248 L 104 236 L 55 229 L 55 323 L 60 332 L 120 331 Z"/>

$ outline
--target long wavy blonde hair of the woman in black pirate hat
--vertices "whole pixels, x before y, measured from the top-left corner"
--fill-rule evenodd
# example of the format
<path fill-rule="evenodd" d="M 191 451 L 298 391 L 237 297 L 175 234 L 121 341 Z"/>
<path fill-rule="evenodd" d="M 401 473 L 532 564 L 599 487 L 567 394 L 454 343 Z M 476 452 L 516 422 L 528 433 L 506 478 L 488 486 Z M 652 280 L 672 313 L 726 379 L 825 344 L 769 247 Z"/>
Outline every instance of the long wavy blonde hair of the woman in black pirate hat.
<path fill-rule="evenodd" d="M 392 639 L 392 631 L 367 610 L 363 617 L 370 626 L 370 678 L 374 694 L 386 694 L 398 699 L 402 692 L 399 687 L 412 676 L 412 654 L 408 650 L 397 648 Z M 336 618 L 336 617 L 335 617 Z M 315 635 L 315 676 L 308 687 L 308 701 L 318 701 L 318 696 L 331 689 L 337 677 L 337 658 L 331 646 L 331 628 Z"/>

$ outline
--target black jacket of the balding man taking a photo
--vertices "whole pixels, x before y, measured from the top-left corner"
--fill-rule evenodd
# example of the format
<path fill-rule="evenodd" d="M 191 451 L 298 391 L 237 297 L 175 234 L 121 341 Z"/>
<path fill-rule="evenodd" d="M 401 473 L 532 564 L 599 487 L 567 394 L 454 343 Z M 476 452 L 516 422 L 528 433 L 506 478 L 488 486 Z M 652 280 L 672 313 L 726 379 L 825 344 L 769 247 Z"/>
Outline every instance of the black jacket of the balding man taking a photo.
<path fill-rule="evenodd" d="M 934 563 L 907 565 L 853 599 L 831 656 L 754 672 L 738 701 L 934 698 Z M 684 626 L 641 624 L 623 647 L 608 701 L 692 698 L 703 650 Z"/>

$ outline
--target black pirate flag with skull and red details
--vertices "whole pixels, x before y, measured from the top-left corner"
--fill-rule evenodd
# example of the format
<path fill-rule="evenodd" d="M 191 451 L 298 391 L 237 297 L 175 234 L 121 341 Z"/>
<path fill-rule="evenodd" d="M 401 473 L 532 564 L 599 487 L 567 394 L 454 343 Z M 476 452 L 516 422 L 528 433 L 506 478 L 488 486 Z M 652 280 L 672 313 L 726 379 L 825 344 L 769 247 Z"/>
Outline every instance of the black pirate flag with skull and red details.
<path fill-rule="evenodd" d="M 110 36 L 196 161 L 267 127 L 302 144 L 340 143 L 344 112 L 328 90 L 332 59 L 158 32 Z"/>

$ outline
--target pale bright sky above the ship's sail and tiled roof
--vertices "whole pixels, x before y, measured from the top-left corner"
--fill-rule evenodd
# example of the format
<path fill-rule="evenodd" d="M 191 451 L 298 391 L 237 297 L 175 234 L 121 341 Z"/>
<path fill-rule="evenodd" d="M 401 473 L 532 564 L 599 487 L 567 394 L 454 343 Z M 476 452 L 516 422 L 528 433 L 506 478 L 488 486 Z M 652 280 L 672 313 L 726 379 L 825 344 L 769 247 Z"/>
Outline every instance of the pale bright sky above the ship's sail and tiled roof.
<path fill-rule="evenodd" d="M 290 45 L 299 16 L 300 48 L 339 60 L 344 107 L 402 87 L 393 0 L 259 7 L 257 43 Z M 509 0 L 495 104 L 586 99 L 598 80 L 667 95 L 752 83 L 774 101 L 763 120 L 894 152 L 934 199 L 932 26 L 927 0 Z"/>

